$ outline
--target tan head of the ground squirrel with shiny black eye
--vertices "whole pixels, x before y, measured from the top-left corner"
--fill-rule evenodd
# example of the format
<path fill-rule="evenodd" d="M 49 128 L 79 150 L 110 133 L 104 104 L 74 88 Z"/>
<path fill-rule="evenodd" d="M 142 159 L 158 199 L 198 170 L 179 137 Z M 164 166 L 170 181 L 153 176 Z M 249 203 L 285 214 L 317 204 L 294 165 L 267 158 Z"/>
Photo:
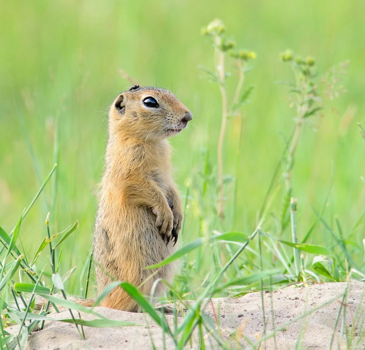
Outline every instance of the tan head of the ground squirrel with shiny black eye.
<path fill-rule="evenodd" d="M 170 91 L 131 86 L 110 107 L 110 132 L 120 137 L 158 140 L 178 134 L 193 118 Z"/>

